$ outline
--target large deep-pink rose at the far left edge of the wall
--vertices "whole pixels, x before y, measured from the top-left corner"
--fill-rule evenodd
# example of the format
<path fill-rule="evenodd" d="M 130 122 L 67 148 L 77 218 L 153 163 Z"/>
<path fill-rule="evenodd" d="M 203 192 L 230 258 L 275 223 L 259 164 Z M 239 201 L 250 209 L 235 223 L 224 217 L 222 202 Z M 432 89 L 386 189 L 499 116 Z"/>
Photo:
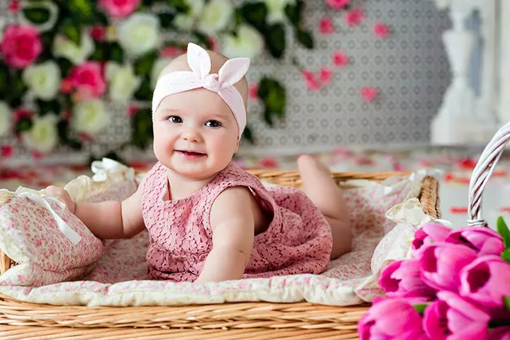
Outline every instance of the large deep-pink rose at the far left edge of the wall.
<path fill-rule="evenodd" d="M 23 69 L 37 60 L 42 52 L 38 31 L 32 26 L 11 25 L 4 31 L 0 52 L 8 66 Z"/>

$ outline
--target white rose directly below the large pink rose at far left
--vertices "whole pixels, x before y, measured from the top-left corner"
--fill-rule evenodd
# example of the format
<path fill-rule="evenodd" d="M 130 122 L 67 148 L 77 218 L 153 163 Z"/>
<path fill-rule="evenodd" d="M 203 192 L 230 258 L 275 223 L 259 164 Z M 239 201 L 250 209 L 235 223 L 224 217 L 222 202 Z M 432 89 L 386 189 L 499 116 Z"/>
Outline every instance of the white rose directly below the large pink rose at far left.
<path fill-rule="evenodd" d="M 30 65 L 22 77 L 28 89 L 45 101 L 55 98 L 60 90 L 60 68 L 52 60 Z"/>

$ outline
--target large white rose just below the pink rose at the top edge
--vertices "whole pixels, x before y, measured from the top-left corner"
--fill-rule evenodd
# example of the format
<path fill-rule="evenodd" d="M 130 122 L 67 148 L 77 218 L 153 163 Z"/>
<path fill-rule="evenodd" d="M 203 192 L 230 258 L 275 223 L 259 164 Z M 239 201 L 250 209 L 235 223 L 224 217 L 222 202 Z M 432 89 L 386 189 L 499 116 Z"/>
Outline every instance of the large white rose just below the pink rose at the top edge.
<path fill-rule="evenodd" d="M 117 27 L 119 44 L 131 57 L 138 57 L 159 46 L 160 33 L 159 19 L 149 13 L 134 13 Z"/>

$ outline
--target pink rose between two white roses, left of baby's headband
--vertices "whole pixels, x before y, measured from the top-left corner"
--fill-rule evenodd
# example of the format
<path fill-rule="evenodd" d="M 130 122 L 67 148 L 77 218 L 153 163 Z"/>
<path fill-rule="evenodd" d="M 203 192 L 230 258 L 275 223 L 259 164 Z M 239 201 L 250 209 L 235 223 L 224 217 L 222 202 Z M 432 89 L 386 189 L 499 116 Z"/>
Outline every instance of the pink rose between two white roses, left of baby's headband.
<path fill-rule="evenodd" d="M 81 100 L 101 97 L 106 91 L 103 69 L 98 62 L 84 62 L 72 69 L 70 79 Z"/>

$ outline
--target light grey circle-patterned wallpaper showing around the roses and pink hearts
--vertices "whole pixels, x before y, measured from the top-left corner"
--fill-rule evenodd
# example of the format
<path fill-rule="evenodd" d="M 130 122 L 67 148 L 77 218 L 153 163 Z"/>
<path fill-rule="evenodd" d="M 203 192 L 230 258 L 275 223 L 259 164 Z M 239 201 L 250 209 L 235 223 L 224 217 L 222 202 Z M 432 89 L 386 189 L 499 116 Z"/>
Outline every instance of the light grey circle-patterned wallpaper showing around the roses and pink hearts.
<path fill-rule="evenodd" d="M 8 15 L 4 14 L 8 13 L 7 2 L 0 0 L 3 16 Z M 314 6 L 316 3 L 320 6 Z M 283 67 L 268 57 L 252 62 L 250 83 L 260 74 L 273 74 L 286 84 L 288 111 L 285 120 L 271 129 L 263 123 L 259 103 L 250 101 L 248 119 L 256 145 L 244 143 L 239 153 L 296 154 L 352 145 L 428 142 L 429 124 L 450 82 L 449 62 L 441 40 L 441 33 L 450 25 L 446 13 L 438 11 L 432 0 L 353 0 L 365 12 L 363 23 L 349 28 L 343 15 L 331 16 L 334 33 L 321 35 L 318 22 L 326 15 L 323 3 L 307 1 L 305 22 L 307 28 L 313 28 L 317 43 L 312 52 L 295 44 L 288 49 Z M 377 38 L 373 33 L 376 22 L 390 26 L 391 35 Z M 331 56 L 339 50 L 349 57 L 349 63 L 341 68 L 331 62 Z M 318 91 L 307 89 L 300 70 L 290 62 L 292 57 L 312 71 L 331 67 L 331 84 Z M 377 87 L 378 98 L 370 103 L 363 101 L 363 86 Z M 104 154 L 128 140 L 130 128 L 125 109 L 111 106 L 110 110 L 111 125 L 98 136 L 98 145 L 86 149 L 87 154 Z M 124 156 L 151 153 L 129 152 Z M 21 149 L 16 154 L 18 159 L 30 158 Z M 57 149 L 53 157 L 73 159 L 81 155 Z"/>

